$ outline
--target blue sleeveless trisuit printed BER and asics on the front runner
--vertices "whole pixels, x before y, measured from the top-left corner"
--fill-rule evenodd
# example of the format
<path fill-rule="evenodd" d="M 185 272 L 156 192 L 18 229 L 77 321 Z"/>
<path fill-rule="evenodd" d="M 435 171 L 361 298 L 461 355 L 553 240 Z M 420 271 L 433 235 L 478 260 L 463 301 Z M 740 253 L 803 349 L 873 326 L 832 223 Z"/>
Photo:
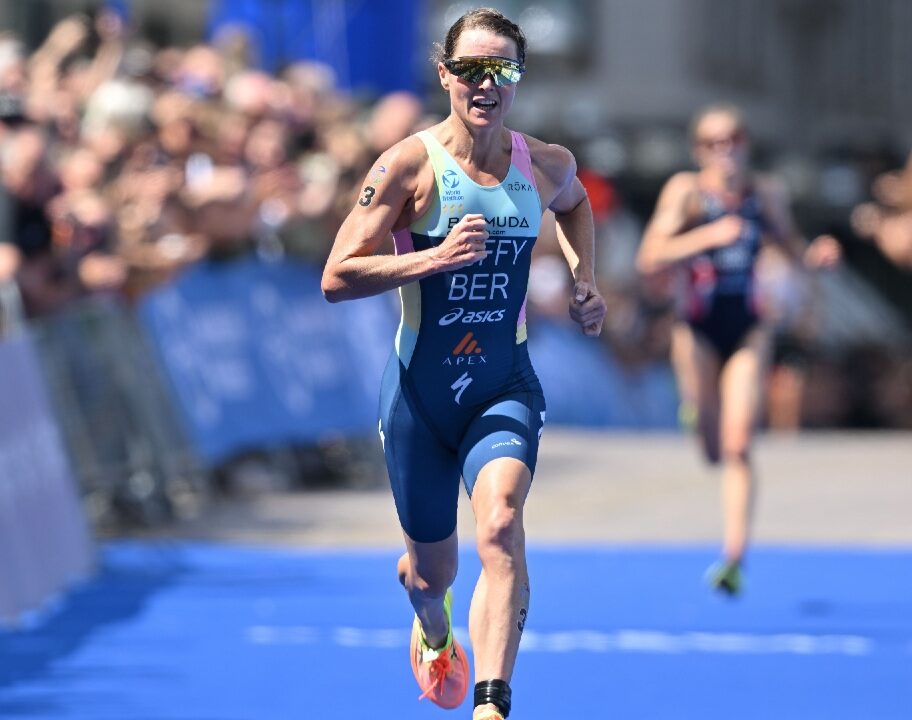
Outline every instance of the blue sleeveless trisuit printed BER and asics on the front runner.
<path fill-rule="evenodd" d="M 542 206 L 524 137 L 512 134 L 503 182 L 474 182 L 429 132 L 427 212 L 395 233 L 396 253 L 439 245 L 463 216 L 484 215 L 488 254 L 399 289 L 402 320 L 380 392 L 380 437 L 403 529 L 419 542 L 456 529 L 459 478 L 517 458 L 534 473 L 545 421 L 526 347 L 526 291 Z"/>

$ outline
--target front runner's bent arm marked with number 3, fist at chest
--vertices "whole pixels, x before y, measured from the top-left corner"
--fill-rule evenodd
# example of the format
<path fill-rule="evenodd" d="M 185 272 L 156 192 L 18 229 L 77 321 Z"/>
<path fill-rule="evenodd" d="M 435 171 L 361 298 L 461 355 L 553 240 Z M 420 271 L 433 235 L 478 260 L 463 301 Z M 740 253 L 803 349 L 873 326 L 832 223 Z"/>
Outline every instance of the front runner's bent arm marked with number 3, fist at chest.
<path fill-rule="evenodd" d="M 433 183 L 427 173 L 424 146 L 416 138 L 394 145 L 374 163 L 355 206 L 339 228 L 323 269 L 322 288 L 327 300 L 377 295 L 485 257 L 488 233 L 481 215 L 463 217 L 436 247 L 402 255 L 375 254 L 394 229 L 408 226 L 409 210 L 422 180 Z"/>

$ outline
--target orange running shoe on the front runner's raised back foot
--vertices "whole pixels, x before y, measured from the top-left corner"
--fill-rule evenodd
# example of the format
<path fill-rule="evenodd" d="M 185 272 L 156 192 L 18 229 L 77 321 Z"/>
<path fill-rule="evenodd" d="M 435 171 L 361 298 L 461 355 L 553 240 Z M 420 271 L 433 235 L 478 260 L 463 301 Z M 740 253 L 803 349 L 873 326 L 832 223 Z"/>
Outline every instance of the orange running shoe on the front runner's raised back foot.
<path fill-rule="evenodd" d="M 462 705 L 469 690 L 469 661 L 465 650 L 453 637 L 453 592 L 447 590 L 443 600 L 443 611 L 447 616 L 449 631 L 442 648 L 435 650 L 428 646 L 418 618 L 412 624 L 410 652 L 412 672 L 421 688 L 419 700 L 430 699 L 447 710 Z"/>

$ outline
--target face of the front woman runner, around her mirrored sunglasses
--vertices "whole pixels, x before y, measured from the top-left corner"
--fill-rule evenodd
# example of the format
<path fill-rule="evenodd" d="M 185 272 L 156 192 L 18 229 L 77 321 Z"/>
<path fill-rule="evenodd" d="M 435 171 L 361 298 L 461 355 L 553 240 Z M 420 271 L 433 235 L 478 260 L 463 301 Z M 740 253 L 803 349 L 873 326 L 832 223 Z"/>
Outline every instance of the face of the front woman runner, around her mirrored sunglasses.
<path fill-rule="evenodd" d="M 459 36 L 453 57 L 478 56 L 518 59 L 516 43 L 490 30 L 465 30 Z M 437 65 L 437 71 L 440 84 L 450 94 L 453 111 L 468 124 L 480 127 L 503 124 L 503 118 L 513 104 L 516 84 L 498 87 L 490 75 L 478 82 L 469 82 L 449 72 L 443 63 Z"/>

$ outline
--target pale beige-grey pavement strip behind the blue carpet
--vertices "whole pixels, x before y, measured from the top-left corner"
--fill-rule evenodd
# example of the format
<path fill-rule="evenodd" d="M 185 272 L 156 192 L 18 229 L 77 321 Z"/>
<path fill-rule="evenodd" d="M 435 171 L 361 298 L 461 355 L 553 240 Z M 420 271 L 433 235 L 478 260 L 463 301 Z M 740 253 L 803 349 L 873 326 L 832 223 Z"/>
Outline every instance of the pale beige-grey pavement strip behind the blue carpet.
<path fill-rule="evenodd" d="M 755 541 L 912 545 L 912 433 L 764 434 Z M 460 501 L 460 537 L 471 541 Z M 718 470 L 694 438 L 548 428 L 526 505 L 528 542 L 717 542 Z M 401 546 L 387 487 L 268 493 L 210 504 L 169 537 L 298 547 Z"/>

